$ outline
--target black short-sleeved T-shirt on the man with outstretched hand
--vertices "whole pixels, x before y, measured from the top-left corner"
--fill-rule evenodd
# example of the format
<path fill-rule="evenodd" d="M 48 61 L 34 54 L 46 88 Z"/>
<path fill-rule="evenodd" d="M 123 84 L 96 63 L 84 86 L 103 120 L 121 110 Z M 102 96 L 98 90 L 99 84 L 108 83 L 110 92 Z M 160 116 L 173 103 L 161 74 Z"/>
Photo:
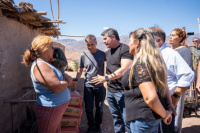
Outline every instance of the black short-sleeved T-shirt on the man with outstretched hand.
<path fill-rule="evenodd" d="M 129 53 L 129 47 L 126 44 L 121 43 L 118 47 L 106 51 L 106 61 L 107 61 L 106 69 L 108 75 L 112 74 L 121 67 L 121 59 L 133 60 L 133 55 Z M 109 81 L 108 90 L 110 92 L 123 91 L 121 78 Z"/>

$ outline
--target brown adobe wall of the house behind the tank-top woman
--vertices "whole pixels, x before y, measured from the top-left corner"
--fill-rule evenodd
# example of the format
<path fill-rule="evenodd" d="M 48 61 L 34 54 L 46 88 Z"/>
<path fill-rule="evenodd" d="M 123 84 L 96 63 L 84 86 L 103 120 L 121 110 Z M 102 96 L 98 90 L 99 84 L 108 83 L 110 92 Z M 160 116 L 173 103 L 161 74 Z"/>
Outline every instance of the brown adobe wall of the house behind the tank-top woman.
<path fill-rule="evenodd" d="M 25 67 L 20 62 L 21 55 L 25 49 L 30 48 L 32 39 L 38 34 L 39 31 L 2 16 L 0 10 L 0 132 L 2 133 L 12 132 L 11 106 L 4 101 L 21 97 L 25 93 L 22 87 L 32 86 L 30 67 Z M 25 118 L 26 105 L 12 106 L 13 130 L 17 128 L 18 118 Z M 18 115 L 18 111 L 22 112 L 22 116 Z"/>

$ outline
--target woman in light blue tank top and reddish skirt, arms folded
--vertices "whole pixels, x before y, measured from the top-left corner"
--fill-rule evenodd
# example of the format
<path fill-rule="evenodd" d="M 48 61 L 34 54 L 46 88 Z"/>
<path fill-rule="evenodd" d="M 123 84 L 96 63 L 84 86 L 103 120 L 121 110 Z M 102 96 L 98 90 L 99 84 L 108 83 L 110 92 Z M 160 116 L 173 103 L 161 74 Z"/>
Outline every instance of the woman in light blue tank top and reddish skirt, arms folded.
<path fill-rule="evenodd" d="M 53 51 L 52 39 L 39 35 L 23 55 L 26 66 L 32 63 L 30 74 L 38 94 L 34 111 L 39 133 L 61 132 L 61 119 L 71 99 L 67 87 L 72 78 L 48 63 L 53 58 Z"/>

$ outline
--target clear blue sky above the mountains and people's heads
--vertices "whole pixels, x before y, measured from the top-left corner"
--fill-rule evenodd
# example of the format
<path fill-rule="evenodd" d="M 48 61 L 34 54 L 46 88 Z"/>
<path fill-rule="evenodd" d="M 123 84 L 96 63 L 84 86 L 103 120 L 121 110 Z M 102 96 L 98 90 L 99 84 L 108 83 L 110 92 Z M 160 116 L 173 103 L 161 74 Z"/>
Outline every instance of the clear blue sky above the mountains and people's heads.
<path fill-rule="evenodd" d="M 18 5 L 21 0 L 14 1 Z M 37 11 L 47 11 L 45 17 L 53 19 L 50 0 L 23 1 L 32 3 Z M 57 19 L 57 0 L 52 0 L 52 4 Z M 135 29 L 157 25 L 169 35 L 174 28 L 182 27 L 186 27 L 186 32 L 199 33 L 197 18 L 200 18 L 200 0 L 60 0 L 60 19 L 67 23 L 59 27 L 66 35 L 100 37 L 104 27 L 128 35 Z"/>

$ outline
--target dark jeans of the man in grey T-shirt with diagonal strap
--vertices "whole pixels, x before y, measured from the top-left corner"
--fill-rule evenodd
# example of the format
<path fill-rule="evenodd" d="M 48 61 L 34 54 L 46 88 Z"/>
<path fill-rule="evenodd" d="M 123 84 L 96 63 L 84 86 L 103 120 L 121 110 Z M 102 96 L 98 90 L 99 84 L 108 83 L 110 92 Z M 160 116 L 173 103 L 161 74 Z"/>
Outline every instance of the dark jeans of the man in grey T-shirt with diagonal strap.
<path fill-rule="evenodd" d="M 102 123 L 103 104 L 105 100 L 106 90 L 104 87 L 84 87 L 85 111 L 88 119 L 89 127 L 99 127 Z M 93 115 L 93 106 L 96 106 L 95 118 Z"/>

